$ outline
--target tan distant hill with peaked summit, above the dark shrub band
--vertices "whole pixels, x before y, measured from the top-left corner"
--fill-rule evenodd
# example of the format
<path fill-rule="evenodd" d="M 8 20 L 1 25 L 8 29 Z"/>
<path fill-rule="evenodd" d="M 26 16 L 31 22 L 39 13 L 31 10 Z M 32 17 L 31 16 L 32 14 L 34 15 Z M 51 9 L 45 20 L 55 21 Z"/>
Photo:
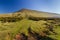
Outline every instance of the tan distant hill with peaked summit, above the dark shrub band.
<path fill-rule="evenodd" d="M 48 13 L 48 12 L 42 12 L 42 11 L 36 11 L 36 10 L 30 10 L 30 9 L 21 9 L 14 13 L 8 13 L 8 14 L 0 14 L 0 17 L 12 17 L 16 16 L 18 14 L 24 15 L 24 16 L 33 16 L 33 17 L 55 17 L 60 18 L 60 14 L 56 13 Z"/>

